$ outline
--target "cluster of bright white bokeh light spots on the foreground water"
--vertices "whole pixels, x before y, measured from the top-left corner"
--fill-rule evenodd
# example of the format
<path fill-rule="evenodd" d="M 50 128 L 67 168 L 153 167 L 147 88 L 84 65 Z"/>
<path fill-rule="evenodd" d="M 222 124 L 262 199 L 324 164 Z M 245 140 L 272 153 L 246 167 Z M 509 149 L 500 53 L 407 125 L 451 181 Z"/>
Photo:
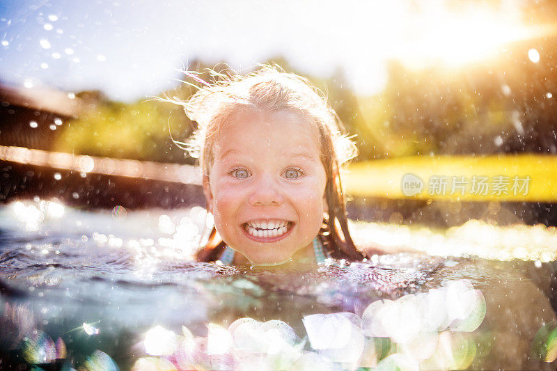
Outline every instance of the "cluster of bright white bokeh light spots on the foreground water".
<path fill-rule="evenodd" d="M 306 315 L 303 338 L 286 322 L 250 317 L 237 319 L 228 329 L 208 324 L 207 337 L 195 337 L 185 327 L 175 334 L 157 325 L 145 334 L 151 356 L 136 361 L 134 369 L 164 362 L 177 370 L 242 370 L 249 365 L 315 370 L 317 364 L 320 370 L 463 370 L 476 357 L 481 334 L 473 331 L 482 324 L 485 309 L 483 294 L 469 282 L 447 281 L 423 294 L 375 301 L 362 317 L 347 312 Z"/>

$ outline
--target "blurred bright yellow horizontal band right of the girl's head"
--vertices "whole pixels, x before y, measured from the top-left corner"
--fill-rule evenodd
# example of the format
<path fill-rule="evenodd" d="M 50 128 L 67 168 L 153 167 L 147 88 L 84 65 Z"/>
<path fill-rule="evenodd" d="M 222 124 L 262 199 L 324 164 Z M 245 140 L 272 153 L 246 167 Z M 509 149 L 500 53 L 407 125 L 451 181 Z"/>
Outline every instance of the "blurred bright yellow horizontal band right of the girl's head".
<path fill-rule="evenodd" d="M 398 199 L 557 200 L 557 156 L 414 156 L 352 164 L 347 194 Z"/>

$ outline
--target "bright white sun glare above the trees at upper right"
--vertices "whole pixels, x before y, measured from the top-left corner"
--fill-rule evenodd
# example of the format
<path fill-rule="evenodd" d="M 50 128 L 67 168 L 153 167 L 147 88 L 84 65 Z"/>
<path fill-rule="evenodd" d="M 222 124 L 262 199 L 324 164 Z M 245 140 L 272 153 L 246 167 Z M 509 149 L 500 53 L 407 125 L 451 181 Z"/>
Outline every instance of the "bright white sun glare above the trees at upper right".
<path fill-rule="evenodd" d="M 501 13 L 478 4 L 462 5 L 456 11 L 436 3 L 423 6 L 419 12 L 407 10 L 400 17 L 407 33 L 403 40 L 391 40 L 391 53 L 411 68 L 438 63 L 457 67 L 483 61 L 510 42 L 539 33 L 524 26 L 517 6 Z"/>

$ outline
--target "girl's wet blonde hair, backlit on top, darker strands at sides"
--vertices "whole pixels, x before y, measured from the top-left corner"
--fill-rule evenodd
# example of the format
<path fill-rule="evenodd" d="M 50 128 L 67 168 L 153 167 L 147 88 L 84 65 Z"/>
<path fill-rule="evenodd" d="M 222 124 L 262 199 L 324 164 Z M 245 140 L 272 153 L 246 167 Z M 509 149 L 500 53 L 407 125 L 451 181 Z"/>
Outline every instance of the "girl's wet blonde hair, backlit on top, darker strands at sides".
<path fill-rule="evenodd" d="M 324 215 L 319 233 L 323 246 L 333 258 L 364 258 L 348 232 L 345 198 L 340 184 L 340 164 L 355 157 L 356 146 L 344 134 L 340 119 L 327 106 L 320 90 L 311 86 L 308 79 L 270 65 L 245 76 L 213 71 L 212 83 L 199 79 L 196 74 L 186 74 L 202 84 L 194 95 L 180 104 L 184 106 L 188 118 L 198 124 L 198 129 L 186 143 L 186 149 L 191 157 L 199 158 L 204 184 L 209 181 L 219 129 L 232 115 L 241 111 L 297 112 L 317 127 L 321 161 L 327 174 L 325 198 L 329 210 Z M 213 227 L 197 259 L 206 262 L 218 260 L 224 246 Z"/>

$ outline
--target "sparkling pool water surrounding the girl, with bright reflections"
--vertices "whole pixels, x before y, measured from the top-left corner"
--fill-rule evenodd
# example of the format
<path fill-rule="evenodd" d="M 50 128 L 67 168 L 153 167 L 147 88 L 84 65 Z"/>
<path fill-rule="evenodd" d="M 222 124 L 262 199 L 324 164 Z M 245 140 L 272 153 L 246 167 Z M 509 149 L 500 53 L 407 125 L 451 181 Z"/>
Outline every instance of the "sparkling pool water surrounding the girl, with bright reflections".
<path fill-rule="evenodd" d="M 223 267 L 191 260 L 205 219 L 201 207 L 87 211 L 39 199 L 0 207 L 0 369 L 557 366 L 553 262 L 478 258 L 450 233 L 405 230 L 421 250 L 441 241 L 447 251 Z M 402 235 L 352 226 L 360 239 Z M 554 231 L 544 233 L 547 241 Z"/>

